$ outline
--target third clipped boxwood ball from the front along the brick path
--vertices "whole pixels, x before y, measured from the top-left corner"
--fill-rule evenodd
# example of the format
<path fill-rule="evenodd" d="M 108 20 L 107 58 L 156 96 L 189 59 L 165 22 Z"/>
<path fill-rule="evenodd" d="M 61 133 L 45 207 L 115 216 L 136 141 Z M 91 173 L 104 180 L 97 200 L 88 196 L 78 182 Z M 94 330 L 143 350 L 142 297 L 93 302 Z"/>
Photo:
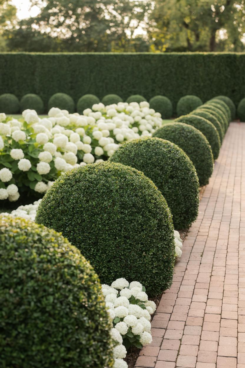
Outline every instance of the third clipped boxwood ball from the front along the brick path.
<path fill-rule="evenodd" d="M 160 138 L 145 137 L 122 144 L 110 161 L 130 165 L 150 178 L 162 192 L 175 229 L 186 229 L 198 214 L 198 177 L 184 151 Z"/>

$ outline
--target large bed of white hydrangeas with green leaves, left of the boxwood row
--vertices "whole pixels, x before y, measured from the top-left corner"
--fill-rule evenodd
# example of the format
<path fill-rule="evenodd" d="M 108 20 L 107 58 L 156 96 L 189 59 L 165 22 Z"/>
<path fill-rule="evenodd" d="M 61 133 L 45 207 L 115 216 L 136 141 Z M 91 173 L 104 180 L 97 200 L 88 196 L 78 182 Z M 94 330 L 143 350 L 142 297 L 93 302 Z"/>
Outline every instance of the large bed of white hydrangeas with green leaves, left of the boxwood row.
<path fill-rule="evenodd" d="M 53 107 L 48 118 L 34 110 L 22 116 L 18 121 L 0 114 L 0 200 L 17 201 L 19 191 L 44 194 L 62 173 L 106 160 L 120 143 L 162 125 L 148 102 L 99 103 L 83 115 Z"/>

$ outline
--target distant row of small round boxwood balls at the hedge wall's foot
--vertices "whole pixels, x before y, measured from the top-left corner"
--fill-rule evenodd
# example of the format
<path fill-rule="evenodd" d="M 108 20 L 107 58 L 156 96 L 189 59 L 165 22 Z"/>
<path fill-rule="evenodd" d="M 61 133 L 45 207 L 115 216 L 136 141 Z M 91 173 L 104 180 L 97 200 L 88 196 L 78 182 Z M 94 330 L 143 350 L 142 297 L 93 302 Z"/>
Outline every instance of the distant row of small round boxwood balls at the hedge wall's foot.
<path fill-rule="evenodd" d="M 231 109 L 231 115 L 234 119 L 236 116 L 236 108 L 233 101 L 226 96 L 224 97 L 228 106 Z M 118 95 L 106 95 L 102 98 L 101 102 L 104 105 L 111 105 L 112 103 L 122 102 L 122 98 Z M 146 99 L 141 95 L 132 95 L 126 102 L 141 102 L 146 101 Z M 76 105 L 76 110 L 79 114 L 83 113 L 84 109 L 91 108 L 95 103 L 99 103 L 100 99 L 95 95 L 84 95 L 82 96 Z M 166 96 L 154 96 L 149 100 L 150 107 L 157 112 L 160 112 L 162 118 L 168 119 L 173 116 L 173 106 L 172 102 Z M 198 106 L 202 105 L 202 100 L 194 95 L 187 95 L 180 98 L 177 103 L 176 113 L 177 116 L 185 115 L 190 113 L 192 110 L 196 109 Z M 48 110 L 51 107 L 59 107 L 61 110 L 68 110 L 70 113 L 75 112 L 75 102 L 71 96 L 66 93 L 55 93 L 48 100 Z M 4 93 L 0 96 L 0 111 L 7 114 L 16 114 L 19 111 L 25 109 L 36 110 L 38 114 L 44 112 L 44 104 L 40 96 L 34 93 L 28 93 L 23 96 L 19 102 L 18 98 L 11 93 Z M 241 100 L 238 105 L 238 117 L 241 121 L 245 121 L 245 99 Z"/>

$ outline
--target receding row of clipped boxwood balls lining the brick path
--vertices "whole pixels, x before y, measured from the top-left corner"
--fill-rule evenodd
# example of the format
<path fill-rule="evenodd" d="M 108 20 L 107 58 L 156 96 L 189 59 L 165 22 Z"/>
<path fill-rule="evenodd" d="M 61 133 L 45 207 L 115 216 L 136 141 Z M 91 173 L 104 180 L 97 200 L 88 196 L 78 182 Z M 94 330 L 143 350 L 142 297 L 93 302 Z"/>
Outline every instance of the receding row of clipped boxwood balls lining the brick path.
<path fill-rule="evenodd" d="M 107 162 L 60 176 L 37 224 L 0 217 L 4 367 L 112 367 L 98 276 L 140 281 L 149 296 L 170 287 L 173 229 L 197 217 L 199 184 L 208 183 L 230 119 L 226 103 L 210 100 L 154 137 L 121 145 Z"/>

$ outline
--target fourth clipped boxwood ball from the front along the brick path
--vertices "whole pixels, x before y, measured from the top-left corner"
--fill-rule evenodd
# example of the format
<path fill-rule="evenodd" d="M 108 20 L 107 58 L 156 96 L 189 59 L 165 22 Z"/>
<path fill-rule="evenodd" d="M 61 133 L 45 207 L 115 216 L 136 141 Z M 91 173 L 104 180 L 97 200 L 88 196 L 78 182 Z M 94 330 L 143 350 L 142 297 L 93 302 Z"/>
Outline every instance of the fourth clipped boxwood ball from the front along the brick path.
<path fill-rule="evenodd" d="M 201 131 L 184 123 L 168 123 L 153 133 L 183 149 L 197 170 L 200 186 L 206 185 L 213 172 L 213 153 Z"/>

